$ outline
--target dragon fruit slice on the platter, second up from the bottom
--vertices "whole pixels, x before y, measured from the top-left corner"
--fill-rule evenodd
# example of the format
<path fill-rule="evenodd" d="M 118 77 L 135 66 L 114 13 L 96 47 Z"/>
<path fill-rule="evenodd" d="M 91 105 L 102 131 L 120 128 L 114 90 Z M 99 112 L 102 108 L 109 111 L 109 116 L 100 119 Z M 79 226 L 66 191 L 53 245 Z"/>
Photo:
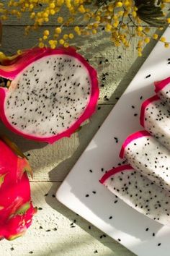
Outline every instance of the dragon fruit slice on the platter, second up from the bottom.
<path fill-rule="evenodd" d="M 151 182 L 170 192 L 170 152 L 146 131 L 135 132 L 122 145 L 120 158 Z"/>

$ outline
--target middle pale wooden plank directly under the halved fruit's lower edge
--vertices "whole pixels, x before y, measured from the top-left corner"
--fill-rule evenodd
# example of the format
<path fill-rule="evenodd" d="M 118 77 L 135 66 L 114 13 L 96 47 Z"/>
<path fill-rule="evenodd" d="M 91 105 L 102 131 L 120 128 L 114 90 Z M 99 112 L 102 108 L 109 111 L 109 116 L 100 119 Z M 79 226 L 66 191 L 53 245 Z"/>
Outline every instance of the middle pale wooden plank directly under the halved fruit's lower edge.
<path fill-rule="evenodd" d="M 99 129 L 99 125 L 109 114 L 112 105 L 102 105 L 99 108 L 97 113 L 92 116 L 91 121 L 84 124 L 79 132 L 76 132 L 70 138 L 58 140 L 53 145 L 24 140 L 22 137 L 6 130 L 3 124 L 0 124 L 0 130 L 1 133 L 6 134 L 17 143 L 25 155 L 28 155 L 34 172 L 34 181 L 63 181 L 79 155 Z"/>

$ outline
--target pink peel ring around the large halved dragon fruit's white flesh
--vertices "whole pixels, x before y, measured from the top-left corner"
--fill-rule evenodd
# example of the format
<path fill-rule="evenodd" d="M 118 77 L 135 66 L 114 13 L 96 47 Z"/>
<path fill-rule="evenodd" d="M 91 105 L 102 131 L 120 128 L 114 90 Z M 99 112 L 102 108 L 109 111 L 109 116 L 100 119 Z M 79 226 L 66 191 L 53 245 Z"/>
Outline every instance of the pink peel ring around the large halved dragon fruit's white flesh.
<path fill-rule="evenodd" d="M 96 70 L 91 67 L 88 62 L 78 53 L 76 53 L 76 49 L 73 47 L 70 48 L 58 48 L 55 50 L 52 50 L 50 48 L 35 48 L 31 50 L 27 50 L 20 56 L 17 61 L 12 64 L 11 66 L 1 67 L 0 66 L 0 77 L 6 77 L 9 79 L 14 79 L 17 77 L 17 74 L 21 72 L 25 67 L 27 67 L 29 64 L 31 64 L 33 61 L 36 61 L 37 59 L 41 59 L 45 56 L 53 56 L 56 54 L 65 54 L 68 56 L 73 56 L 79 61 L 81 61 L 81 64 L 84 65 L 84 67 L 89 72 L 89 77 L 91 79 L 91 95 L 89 98 L 89 103 L 84 109 L 83 114 L 73 123 L 71 127 L 66 129 L 65 131 L 59 133 L 58 135 L 53 135 L 49 137 L 40 137 L 35 135 L 30 135 L 22 132 L 21 130 L 17 129 L 16 127 L 12 126 L 12 124 L 6 119 L 5 114 L 5 99 L 6 95 L 8 95 L 9 90 L 6 88 L 0 88 L 0 118 L 1 121 L 4 122 L 7 128 L 12 130 L 12 132 L 17 133 L 18 135 L 21 135 L 29 140 L 37 140 L 39 142 L 48 142 L 53 143 L 56 140 L 61 139 L 62 137 L 70 137 L 73 132 L 75 132 L 77 129 L 79 129 L 80 125 L 86 120 L 89 119 L 89 117 L 94 114 L 94 111 L 96 111 L 97 101 L 99 98 L 99 85 L 97 80 L 97 72 Z"/>

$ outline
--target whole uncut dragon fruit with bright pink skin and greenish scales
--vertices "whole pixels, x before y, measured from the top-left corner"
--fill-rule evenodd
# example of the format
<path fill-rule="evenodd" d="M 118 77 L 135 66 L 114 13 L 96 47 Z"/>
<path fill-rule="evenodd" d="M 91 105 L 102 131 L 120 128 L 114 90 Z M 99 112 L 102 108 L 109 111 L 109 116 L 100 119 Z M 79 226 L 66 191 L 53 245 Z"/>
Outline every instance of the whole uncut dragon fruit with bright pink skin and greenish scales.
<path fill-rule="evenodd" d="M 0 239 L 12 240 L 22 236 L 37 211 L 31 202 L 27 171 L 31 171 L 27 159 L 14 143 L 1 137 Z"/>

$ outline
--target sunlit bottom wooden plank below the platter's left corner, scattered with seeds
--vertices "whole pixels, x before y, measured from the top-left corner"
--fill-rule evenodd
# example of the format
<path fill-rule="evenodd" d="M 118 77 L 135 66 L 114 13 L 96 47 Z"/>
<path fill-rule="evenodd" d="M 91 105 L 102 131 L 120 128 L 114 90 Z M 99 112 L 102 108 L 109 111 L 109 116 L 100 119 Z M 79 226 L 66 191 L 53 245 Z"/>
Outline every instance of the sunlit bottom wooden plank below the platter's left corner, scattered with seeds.
<path fill-rule="evenodd" d="M 102 231 L 61 205 L 53 197 L 59 185 L 60 183 L 55 182 L 31 183 L 33 203 L 42 210 L 38 210 L 32 226 L 22 238 L 13 242 L 1 241 L 0 255 L 133 256 L 133 253 L 109 236 L 100 239 Z M 45 196 L 47 193 L 48 195 Z M 74 220 L 76 223 L 71 225 Z M 71 226 L 74 227 L 71 228 Z M 94 253 L 96 250 L 97 254 Z"/>

